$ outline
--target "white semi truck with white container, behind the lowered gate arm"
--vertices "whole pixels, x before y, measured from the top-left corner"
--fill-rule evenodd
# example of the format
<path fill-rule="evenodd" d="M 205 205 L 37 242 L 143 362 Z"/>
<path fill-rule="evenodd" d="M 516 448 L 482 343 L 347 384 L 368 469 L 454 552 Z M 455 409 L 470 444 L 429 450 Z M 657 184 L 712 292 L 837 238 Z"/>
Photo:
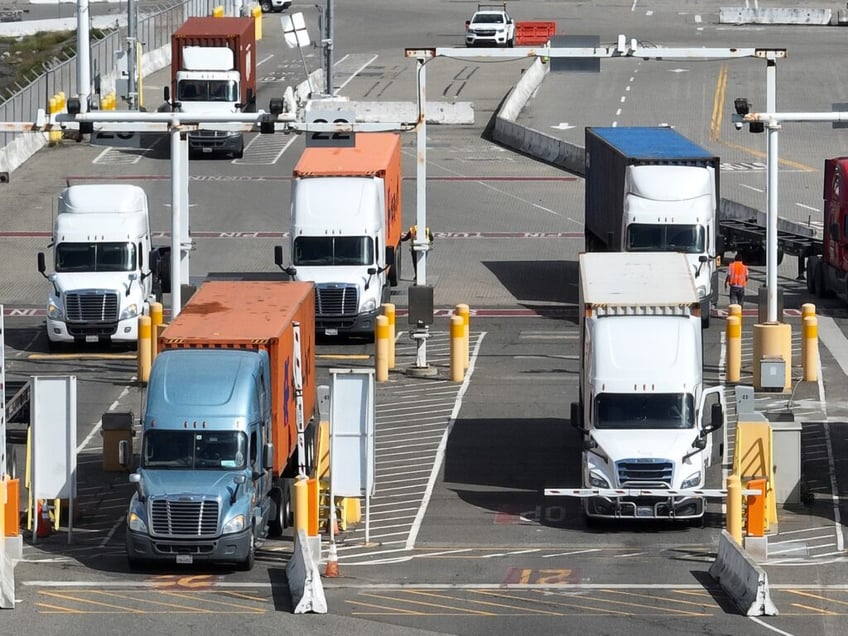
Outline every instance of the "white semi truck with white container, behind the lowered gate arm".
<path fill-rule="evenodd" d="M 589 520 L 696 520 L 722 387 L 706 388 L 700 304 L 686 255 L 597 252 L 579 257 L 579 401 Z"/>

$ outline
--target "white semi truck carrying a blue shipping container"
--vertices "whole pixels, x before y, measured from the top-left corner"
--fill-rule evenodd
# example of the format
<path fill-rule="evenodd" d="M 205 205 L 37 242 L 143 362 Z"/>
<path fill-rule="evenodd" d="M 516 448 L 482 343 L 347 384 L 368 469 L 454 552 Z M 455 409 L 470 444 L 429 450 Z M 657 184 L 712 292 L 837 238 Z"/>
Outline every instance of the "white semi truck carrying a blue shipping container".
<path fill-rule="evenodd" d="M 720 160 L 673 128 L 586 128 L 587 252 L 680 252 L 701 321 L 718 304 Z"/>

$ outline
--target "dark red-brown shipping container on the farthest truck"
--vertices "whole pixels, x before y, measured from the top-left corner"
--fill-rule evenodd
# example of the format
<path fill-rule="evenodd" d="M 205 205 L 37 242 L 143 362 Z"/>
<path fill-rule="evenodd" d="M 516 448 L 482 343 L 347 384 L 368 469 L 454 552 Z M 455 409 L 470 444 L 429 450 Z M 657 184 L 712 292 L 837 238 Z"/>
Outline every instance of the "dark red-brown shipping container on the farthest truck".
<path fill-rule="evenodd" d="M 184 46 L 226 46 L 235 53 L 241 73 L 241 101 L 247 90 L 256 95 L 256 24 L 254 18 L 192 17 L 171 36 L 171 91 L 177 94 L 176 75 L 183 66 Z"/>

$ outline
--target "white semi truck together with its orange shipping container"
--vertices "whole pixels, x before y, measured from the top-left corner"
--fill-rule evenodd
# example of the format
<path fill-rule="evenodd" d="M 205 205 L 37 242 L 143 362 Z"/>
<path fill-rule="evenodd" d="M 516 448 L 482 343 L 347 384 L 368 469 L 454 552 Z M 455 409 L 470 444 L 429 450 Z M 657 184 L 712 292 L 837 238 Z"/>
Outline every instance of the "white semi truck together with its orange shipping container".
<path fill-rule="evenodd" d="M 358 133 L 353 147 L 307 147 L 291 184 L 294 280 L 315 283 L 315 327 L 328 336 L 374 335 L 400 278 L 401 154 L 397 133 Z"/>

